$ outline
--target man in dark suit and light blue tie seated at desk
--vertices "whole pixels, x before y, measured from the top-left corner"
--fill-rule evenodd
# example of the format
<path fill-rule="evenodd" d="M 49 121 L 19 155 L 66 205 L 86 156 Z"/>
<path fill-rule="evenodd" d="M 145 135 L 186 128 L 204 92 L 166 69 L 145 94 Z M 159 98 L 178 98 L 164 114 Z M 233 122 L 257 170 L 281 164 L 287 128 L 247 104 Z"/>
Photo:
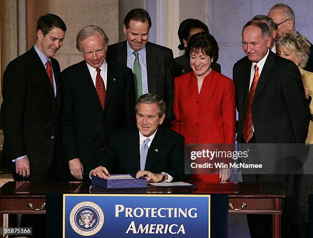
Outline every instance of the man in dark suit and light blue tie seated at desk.
<path fill-rule="evenodd" d="M 157 94 L 142 95 L 136 103 L 138 128 L 112 136 L 106 156 L 94 161 L 91 169 L 98 167 L 90 174 L 107 178 L 114 171 L 145 176 L 149 182 L 184 180 L 184 137 L 159 126 L 165 109 L 165 102 Z"/>

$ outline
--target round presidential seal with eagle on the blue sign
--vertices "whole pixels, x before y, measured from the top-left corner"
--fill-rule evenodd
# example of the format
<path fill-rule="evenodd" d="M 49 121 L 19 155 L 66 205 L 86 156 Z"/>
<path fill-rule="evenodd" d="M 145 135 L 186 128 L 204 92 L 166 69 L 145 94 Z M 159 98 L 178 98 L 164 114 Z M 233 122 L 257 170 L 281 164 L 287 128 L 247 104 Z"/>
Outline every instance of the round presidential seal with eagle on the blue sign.
<path fill-rule="evenodd" d="M 83 236 L 96 234 L 101 230 L 103 223 L 103 211 L 93 202 L 78 203 L 70 213 L 70 224 L 73 230 Z"/>

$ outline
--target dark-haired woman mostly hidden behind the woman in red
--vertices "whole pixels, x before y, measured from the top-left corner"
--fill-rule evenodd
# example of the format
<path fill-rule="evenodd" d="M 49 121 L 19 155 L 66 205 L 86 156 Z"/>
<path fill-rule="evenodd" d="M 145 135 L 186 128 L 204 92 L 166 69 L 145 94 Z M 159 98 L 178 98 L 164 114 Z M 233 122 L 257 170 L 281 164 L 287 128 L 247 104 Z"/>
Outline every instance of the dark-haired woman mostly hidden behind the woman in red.
<path fill-rule="evenodd" d="M 187 43 L 190 38 L 195 33 L 206 32 L 209 33 L 209 29 L 206 24 L 198 19 L 186 19 L 183 20 L 180 27 L 178 28 L 178 38 L 180 38 L 181 44 L 178 46 L 180 50 L 186 50 Z M 176 77 L 191 72 L 189 60 L 186 54 L 174 58 L 176 65 Z M 211 64 L 211 68 L 220 73 L 220 65 L 216 62 Z"/>

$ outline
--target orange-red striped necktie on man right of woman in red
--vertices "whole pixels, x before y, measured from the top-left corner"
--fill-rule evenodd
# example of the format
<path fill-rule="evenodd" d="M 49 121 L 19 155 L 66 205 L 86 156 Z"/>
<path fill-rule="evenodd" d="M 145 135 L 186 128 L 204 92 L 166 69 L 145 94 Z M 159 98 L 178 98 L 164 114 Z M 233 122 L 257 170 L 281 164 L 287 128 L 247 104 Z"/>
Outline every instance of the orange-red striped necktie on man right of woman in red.
<path fill-rule="evenodd" d="M 245 111 L 245 116 L 243 120 L 243 139 L 245 142 L 248 142 L 252 136 L 253 136 L 253 130 L 252 130 L 252 114 L 251 114 L 251 106 L 252 101 L 255 93 L 255 89 L 258 85 L 259 81 L 259 68 L 257 65 L 254 66 L 254 76 L 251 83 L 250 91 L 249 91 L 249 98 L 248 98 L 248 104 L 247 104 L 247 110 Z"/>

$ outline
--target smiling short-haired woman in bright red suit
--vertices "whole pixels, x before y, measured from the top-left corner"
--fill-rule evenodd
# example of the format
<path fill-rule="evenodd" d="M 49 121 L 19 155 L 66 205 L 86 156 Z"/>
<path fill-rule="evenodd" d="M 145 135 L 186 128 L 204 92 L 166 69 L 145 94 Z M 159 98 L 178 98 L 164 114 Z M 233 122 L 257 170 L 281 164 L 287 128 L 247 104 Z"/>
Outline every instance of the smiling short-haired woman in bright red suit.
<path fill-rule="evenodd" d="M 186 54 L 192 72 L 174 81 L 172 129 L 186 143 L 235 143 L 235 86 L 233 81 L 212 70 L 218 58 L 214 37 L 202 32 L 191 36 Z M 226 182 L 229 169 L 217 174 L 192 175 L 193 182 Z"/>

